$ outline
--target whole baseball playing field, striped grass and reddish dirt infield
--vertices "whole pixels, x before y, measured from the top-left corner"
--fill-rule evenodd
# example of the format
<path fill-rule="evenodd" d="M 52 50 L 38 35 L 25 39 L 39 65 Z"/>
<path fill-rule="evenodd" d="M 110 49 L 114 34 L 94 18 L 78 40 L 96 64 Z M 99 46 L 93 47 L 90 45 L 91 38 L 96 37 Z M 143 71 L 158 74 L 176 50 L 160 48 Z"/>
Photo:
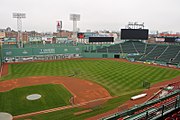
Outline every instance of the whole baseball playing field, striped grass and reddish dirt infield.
<path fill-rule="evenodd" d="M 109 101 L 104 101 L 104 104 L 98 104 L 98 106 L 90 108 L 74 107 L 25 117 L 33 120 L 85 119 L 113 109 L 129 100 L 132 95 L 141 93 L 145 89 L 142 85 L 143 81 L 153 85 L 158 82 L 171 80 L 177 76 L 180 76 L 180 70 L 111 59 L 71 59 L 9 64 L 8 74 L 2 76 L 1 82 L 15 81 L 15 84 L 9 85 L 11 87 L 4 86 L 7 89 L 1 90 L 0 111 L 9 112 L 13 116 L 17 116 L 71 105 L 72 101 L 70 101 L 70 98 L 72 96 L 81 97 L 78 100 L 74 98 L 73 104 L 99 98 L 111 98 Z M 58 77 L 61 77 L 61 79 Z M 53 79 L 56 79 L 56 81 Z M 53 82 L 47 82 L 48 80 Z M 79 84 L 77 83 L 78 80 L 82 84 L 76 86 L 76 84 Z M 27 83 L 24 84 L 22 81 Z M 34 83 L 38 82 L 38 85 L 32 84 L 33 81 Z M 17 85 L 17 83 L 20 84 Z M 43 85 L 40 85 L 40 83 Z M 89 87 L 85 87 L 85 84 L 88 84 Z M 70 85 L 74 85 L 76 88 Z M 95 88 L 90 87 L 93 85 Z M 102 87 L 101 90 L 100 87 Z M 87 89 L 92 90 L 87 91 Z M 96 96 L 92 95 L 91 97 L 90 93 L 93 92 L 93 89 L 96 90 L 94 92 Z M 87 93 L 84 94 L 83 92 Z M 37 101 L 27 101 L 25 96 L 32 93 L 39 93 L 42 95 L 42 98 Z M 84 98 L 83 95 L 85 96 Z M 90 112 L 75 115 L 75 113 L 87 109 L 90 109 Z"/>

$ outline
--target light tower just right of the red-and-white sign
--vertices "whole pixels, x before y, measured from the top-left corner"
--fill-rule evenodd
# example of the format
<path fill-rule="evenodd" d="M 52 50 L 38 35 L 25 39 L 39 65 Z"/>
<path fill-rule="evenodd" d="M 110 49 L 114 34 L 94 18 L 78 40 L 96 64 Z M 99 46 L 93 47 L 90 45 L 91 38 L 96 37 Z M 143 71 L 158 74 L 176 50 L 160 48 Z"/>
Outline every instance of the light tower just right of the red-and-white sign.
<path fill-rule="evenodd" d="M 80 14 L 70 14 L 70 20 L 73 21 L 73 40 L 77 38 L 77 21 L 80 21 Z"/>

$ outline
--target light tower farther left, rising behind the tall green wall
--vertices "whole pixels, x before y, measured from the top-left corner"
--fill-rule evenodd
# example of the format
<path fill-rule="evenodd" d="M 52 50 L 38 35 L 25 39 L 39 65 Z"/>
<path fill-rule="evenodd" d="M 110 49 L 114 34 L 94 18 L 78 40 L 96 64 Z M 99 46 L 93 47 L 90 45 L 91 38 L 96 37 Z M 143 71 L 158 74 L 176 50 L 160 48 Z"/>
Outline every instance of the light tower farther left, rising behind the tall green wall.
<path fill-rule="evenodd" d="M 13 18 L 17 19 L 18 46 L 23 47 L 22 42 L 22 18 L 26 18 L 25 13 L 13 13 Z"/>

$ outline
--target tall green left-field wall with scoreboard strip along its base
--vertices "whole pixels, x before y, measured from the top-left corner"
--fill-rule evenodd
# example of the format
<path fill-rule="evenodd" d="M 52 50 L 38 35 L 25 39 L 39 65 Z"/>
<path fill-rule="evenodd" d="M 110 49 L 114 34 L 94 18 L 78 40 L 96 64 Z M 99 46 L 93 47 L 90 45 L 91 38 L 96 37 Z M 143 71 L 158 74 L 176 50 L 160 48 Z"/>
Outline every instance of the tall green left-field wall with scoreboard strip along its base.
<path fill-rule="evenodd" d="M 79 58 L 82 46 L 58 46 L 38 48 L 3 48 L 3 62 L 23 62 L 33 60 L 58 60 Z"/>

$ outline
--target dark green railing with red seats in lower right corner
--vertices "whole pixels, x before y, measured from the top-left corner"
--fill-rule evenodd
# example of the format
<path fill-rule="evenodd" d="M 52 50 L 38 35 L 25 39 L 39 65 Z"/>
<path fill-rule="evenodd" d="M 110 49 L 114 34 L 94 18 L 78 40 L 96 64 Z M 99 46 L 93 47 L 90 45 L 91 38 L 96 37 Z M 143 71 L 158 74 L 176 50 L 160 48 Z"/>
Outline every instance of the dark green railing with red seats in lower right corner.
<path fill-rule="evenodd" d="M 173 99 L 171 100 L 171 98 Z M 164 102 L 166 100 L 170 100 L 170 101 L 167 101 L 166 103 L 159 105 L 161 102 Z M 141 113 L 135 114 L 135 112 L 138 112 L 145 108 L 148 109 L 144 110 L 144 112 L 141 112 L 142 114 Z M 119 118 L 122 118 L 124 120 L 138 120 L 140 118 L 145 118 L 146 120 L 149 119 L 155 120 L 179 108 L 180 108 L 180 90 L 177 90 L 174 91 L 173 93 L 168 94 L 165 97 L 135 106 L 127 111 L 111 114 L 109 116 L 101 118 L 100 120 L 116 120 Z"/>

